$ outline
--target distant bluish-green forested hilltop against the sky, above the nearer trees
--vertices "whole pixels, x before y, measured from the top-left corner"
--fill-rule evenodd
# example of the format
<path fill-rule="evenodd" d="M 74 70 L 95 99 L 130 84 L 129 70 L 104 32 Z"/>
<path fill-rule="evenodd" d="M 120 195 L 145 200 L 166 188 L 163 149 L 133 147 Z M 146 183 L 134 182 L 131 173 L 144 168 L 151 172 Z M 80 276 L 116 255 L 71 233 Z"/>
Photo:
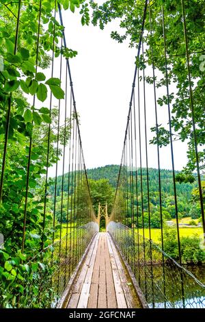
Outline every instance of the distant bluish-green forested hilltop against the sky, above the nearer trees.
<path fill-rule="evenodd" d="M 99 180 L 99 179 L 108 179 L 109 184 L 113 188 L 116 188 L 118 182 L 118 173 L 119 173 L 120 166 L 119 165 L 107 165 L 107 166 L 100 166 L 94 169 L 87 169 L 87 177 L 88 179 Z M 149 184 L 150 184 L 150 192 L 157 192 L 159 191 L 159 173 L 158 169 L 149 168 Z M 177 171 L 176 171 L 177 173 Z M 140 169 L 137 170 L 138 176 L 140 175 Z M 135 173 L 133 173 L 135 175 Z M 61 193 L 61 180 L 62 177 L 57 177 L 57 195 Z M 142 181 L 143 187 L 146 186 L 146 169 L 142 169 Z M 140 180 L 138 179 L 138 184 L 140 184 Z M 177 183 L 177 193 L 178 197 L 180 195 L 183 196 L 183 199 L 189 199 L 191 197 L 191 190 L 195 187 L 195 183 Z M 174 188 L 173 188 L 173 177 L 171 170 L 161 169 L 161 188 L 162 192 L 166 193 L 167 195 L 173 195 Z M 54 189 L 54 186 L 51 188 Z M 64 191 L 68 191 L 68 173 L 64 175 Z"/>

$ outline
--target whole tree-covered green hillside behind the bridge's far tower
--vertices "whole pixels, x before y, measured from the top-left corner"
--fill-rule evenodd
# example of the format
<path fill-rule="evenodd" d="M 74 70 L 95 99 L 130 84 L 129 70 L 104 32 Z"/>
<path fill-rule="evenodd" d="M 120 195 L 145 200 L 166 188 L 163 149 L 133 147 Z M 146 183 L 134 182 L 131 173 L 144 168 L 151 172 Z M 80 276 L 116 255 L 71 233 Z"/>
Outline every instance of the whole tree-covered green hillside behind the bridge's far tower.
<path fill-rule="evenodd" d="M 92 201 L 94 203 L 95 212 L 98 211 L 98 202 L 104 204 L 106 201 L 108 203 L 109 212 L 113 205 L 113 197 L 115 195 L 115 188 L 118 183 L 118 171 L 120 166 L 118 165 L 107 165 L 100 166 L 95 169 L 87 170 L 87 177 L 90 183 L 90 192 Z M 154 224 L 154 227 L 159 227 L 159 173 L 157 169 L 148 169 L 149 172 L 149 186 L 150 186 L 150 211 L 152 212 L 152 218 L 154 221 L 154 216 L 157 217 L 157 221 Z M 142 176 L 141 176 L 142 174 Z M 128 178 L 130 177 L 131 172 L 128 172 Z M 70 178 L 72 177 L 70 173 Z M 143 187 L 143 212 L 145 218 L 148 215 L 148 194 L 147 194 L 147 174 L 146 169 L 143 168 L 137 169 L 137 189 L 138 189 L 138 211 L 139 217 L 141 217 L 141 179 Z M 133 173 L 133 180 L 136 182 L 136 173 Z M 72 181 L 70 179 L 70 181 Z M 61 208 L 61 182 L 62 177 L 57 177 L 57 217 L 60 216 Z M 128 179 L 128 183 L 129 183 Z M 109 187 L 110 186 L 110 187 Z M 54 184 L 51 186 L 51 195 L 54 193 Z M 103 190 L 105 188 L 105 191 Z M 74 187 L 70 186 L 70 194 Z M 191 216 L 193 219 L 199 218 L 198 206 L 193 202 L 192 191 L 195 188 L 195 182 L 191 183 L 176 183 L 177 188 L 177 197 L 178 197 L 178 214 L 180 218 Z M 107 193 L 107 191 L 112 191 L 112 193 Z M 129 184 L 128 184 L 129 191 Z M 134 191 L 136 195 L 136 191 Z M 64 175 L 64 199 L 66 205 L 66 199 L 68 198 L 68 173 Z M 162 197 L 162 210 L 163 216 L 166 220 L 175 218 L 175 206 L 174 206 L 174 186 L 173 186 L 173 177 L 172 171 L 170 170 L 161 170 L 161 197 Z M 128 217 L 131 217 L 131 196 L 128 193 Z M 65 206 L 66 207 L 66 206 Z M 137 211 L 137 201 L 134 205 L 134 211 Z M 66 210 L 65 210 L 66 214 Z M 64 218 L 66 220 L 66 216 Z M 139 220 L 139 225 L 141 220 Z"/>

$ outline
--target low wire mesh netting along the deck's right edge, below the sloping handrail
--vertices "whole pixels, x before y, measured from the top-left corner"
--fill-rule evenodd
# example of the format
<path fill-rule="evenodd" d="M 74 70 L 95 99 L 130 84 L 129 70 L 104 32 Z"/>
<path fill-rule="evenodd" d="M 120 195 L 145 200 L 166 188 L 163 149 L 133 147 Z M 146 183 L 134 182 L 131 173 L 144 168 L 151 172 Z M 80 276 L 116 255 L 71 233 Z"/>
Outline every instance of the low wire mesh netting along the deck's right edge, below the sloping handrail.
<path fill-rule="evenodd" d="M 121 223 L 107 228 L 150 308 L 204 308 L 205 285 L 147 238 Z"/>

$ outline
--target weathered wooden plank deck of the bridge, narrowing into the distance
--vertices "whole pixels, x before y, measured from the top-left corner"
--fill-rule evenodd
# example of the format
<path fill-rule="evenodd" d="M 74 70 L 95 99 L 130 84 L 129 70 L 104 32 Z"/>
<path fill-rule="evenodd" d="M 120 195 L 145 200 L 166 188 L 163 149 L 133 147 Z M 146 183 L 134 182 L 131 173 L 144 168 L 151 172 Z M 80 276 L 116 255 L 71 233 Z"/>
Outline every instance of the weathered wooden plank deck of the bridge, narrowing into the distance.
<path fill-rule="evenodd" d="M 98 233 L 72 288 L 67 308 L 139 308 L 108 233 Z"/>

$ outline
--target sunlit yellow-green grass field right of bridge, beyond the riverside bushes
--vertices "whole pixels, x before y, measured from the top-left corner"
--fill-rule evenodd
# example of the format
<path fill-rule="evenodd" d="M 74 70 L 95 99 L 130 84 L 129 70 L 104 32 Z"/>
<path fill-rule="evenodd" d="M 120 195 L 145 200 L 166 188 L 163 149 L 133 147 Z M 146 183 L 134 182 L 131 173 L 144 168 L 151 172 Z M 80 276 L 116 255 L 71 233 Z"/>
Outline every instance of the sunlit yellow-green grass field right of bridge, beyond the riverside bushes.
<path fill-rule="evenodd" d="M 139 234 L 143 235 L 142 229 L 139 229 Z M 149 238 L 148 228 L 145 228 L 144 234 L 145 234 L 146 238 Z M 194 236 L 194 235 L 200 236 L 202 234 L 203 234 L 203 230 L 201 227 L 196 227 L 196 228 L 189 228 L 189 227 L 183 228 L 183 227 L 181 227 L 180 228 L 180 237 L 187 237 L 187 236 Z M 152 228 L 151 237 L 155 243 L 159 243 L 160 236 L 161 236 L 161 230 Z"/>

